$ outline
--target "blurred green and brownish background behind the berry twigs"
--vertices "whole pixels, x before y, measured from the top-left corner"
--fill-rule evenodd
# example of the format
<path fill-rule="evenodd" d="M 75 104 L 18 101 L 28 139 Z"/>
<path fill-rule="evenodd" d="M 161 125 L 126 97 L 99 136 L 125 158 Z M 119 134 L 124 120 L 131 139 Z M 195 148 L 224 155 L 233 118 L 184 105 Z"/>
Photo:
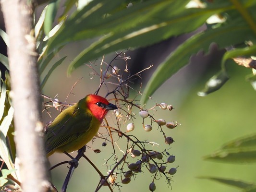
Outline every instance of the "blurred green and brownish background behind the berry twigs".
<path fill-rule="evenodd" d="M 94 93 L 98 88 L 98 77 L 92 78 L 89 72 L 92 72 L 87 66 L 80 67 L 76 70 L 72 77 L 66 77 L 66 68 L 69 64 L 69 60 L 72 60 L 74 52 L 83 47 L 83 44 L 75 44 L 73 47 L 64 48 L 60 54 L 67 55 L 66 63 L 61 65 L 49 79 L 46 84 L 43 93 L 54 97 L 58 94 L 58 99 L 64 101 L 67 94 L 71 90 L 75 81 L 84 77 L 74 87 L 73 94 L 70 95 L 68 102 L 73 103 L 84 97 L 86 94 Z M 82 48 L 81 48 L 82 49 Z M 133 52 L 130 53 L 133 55 Z M 129 56 L 129 53 L 127 53 Z M 61 58 L 61 56 L 59 55 Z M 109 62 L 114 57 L 114 54 L 105 57 L 105 61 Z M 99 59 L 97 62 L 100 63 Z M 128 60 L 128 63 L 132 63 Z M 150 65 L 152 63 L 146 63 Z M 124 65 L 123 62 L 118 61 L 116 64 L 119 68 Z M 200 66 L 200 65 L 199 65 Z M 130 66 L 132 67 L 132 66 Z M 95 67 L 99 70 L 99 65 Z M 129 68 L 129 66 L 128 66 Z M 156 68 L 154 66 L 153 70 Z M 230 178 L 245 181 L 254 181 L 256 177 L 255 165 L 235 165 L 224 164 L 217 162 L 205 161 L 203 156 L 209 155 L 217 150 L 222 144 L 233 140 L 235 138 L 255 133 L 255 103 L 254 98 L 256 96 L 255 91 L 251 85 L 245 81 L 245 76 L 251 72 L 249 69 L 245 69 L 235 64 L 228 66 L 228 72 L 231 79 L 217 92 L 210 94 L 206 97 L 197 96 L 197 92 L 202 90 L 205 82 L 210 78 L 214 72 L 218 69 L 215 66 L 210 66 L 210 72 L 197 73 L 199 70 L 198 63 L 191 64 L 180 72 L 175 74 L 165 84 L 159 87 L 158 91 L 152 96 L 152 100 L 149 100 L 146 108 L 153 107 L 156 103 L 165 102 L 173 105 L 175 109 L 172 111 L 161 110 L 157 108 L 157 112 L 154 112 L 155 119 L 165 119 L 166 121 L 176 120 L 181 123 L 178 128 L 173 130 L 164 129 L 167 136 L 171 136 L 174 139 L 174 143 L 171 144 L 171 149 L 168 151 L 171 155 L 176 156 L 176 161 L 169 164 L 167 170 L 172 167 L 177 167 L 177 173 L 172 178 L 171 182 L 172 191 L 175 192 L 239 192 L 239 189 L 232 188 L 230 186 L 222 185 L 210 180 L 197 179 L 200 176 L 215 176 L 222 178 Z M 192 70 L 191 70 L 192 69 Z M 146 80 L 150 76 L 151 72 L 144 72 L 143 80 Z M 143 85 L 146 83 L 144 82 Z M 138 88 L 140 84 L 137 82 L 134 87 Z M 106 91 L 106 90 L 105 90 Z M 104 87 L 100 92 L 100 95 L 104 95 Z M 133 93 L 130 91 L 130 96 L 133 98 Z M 137 111 L 138 112 L 138 111 Z M 44 122 L 53 120 L 56 117 L 57 112 L 52 112 L 52 119 L 44 113 Z M 111 114 L 109 114 L 111 115 Z M 110 120 L 111 121 L 111 120 Z M 131 121 L 128 121 L 129 123 Z M 147 122 L 149 123 L 149 121 Z M 142 119 L 137 118 L 134 120 L 135 130 L 131 132 L 140 140 L 148 140 L 158 143 L 159 147 L 154 147 L 153 150 L 163 151 L 168 148 L 168 145 L 164 143 L 162 134 L 157 127 L 153 127 L 151 132 L 145 132 L 142 128 Z M 125 125 L 121 127 L 121 130 L 125 130 Z M 101 130 L 102 131 L 102 130 Z M 103 132 L 105 132 L 103 130 Z M 115 141 L 122 146 L 125 146 L 126 140 L 124 138 L 115 138 Z M 108 143 L 106 147 L 101 146 L 103 140 L 96 140 L 93 144 L 88 144 L 93 149 L 100 149 L 101 153 L 95 154 L 91 149 L 87 149 L 86 156 L 88 156 L 93 163 L 100 169 L 100 171 L 107 175 L 107 170 L 112 168 L 106 168 L 105 162 L 112 155 L 111 144 Z M 125 149 L 125 147 L 123 147 Z M 122 152 L 117 150 L 117 155 L 122 156 Z M 76 155 L 76 152 L 73 156 Z M 70 160 L 65 155 L 54 154 L 50 158 L 51 165 L 55 165 L 63 160 Z M 137 159 L 131 159 L 131 162 L 135 162 Z M 111 163 L 108 164 L 109 166 Z M 143 169 L 144 173 L 138 174 L 127 185 L 120 187 L 122 192 L 133 191 L 148 191 L 148 185 L 152 182 L 151 174 L 146 169 Z M 53 183 L 58 189 L 65 179 L 68 172 L 66 165 L 62 165 L 59 168 L 55 168 L 52 173 Z M 120 181 L 120 178 L 118 178 Z M 118 180 L 117 179 L 117 180 Z M 86 162 L 85 159 L 80 160 L 79 167 L 74 171 L 73 177 L 68 185 L 69 192 L 88 192 L 94 191 L 99 181 L 98 173 Z M 157 190 L 156 191 L 170 191 L 165 178 L 155 180 Z M 114 191 L 118 189 L 115 188 Z M 100 189 L 102 192 L 108 192 L 108 187 Z"/>

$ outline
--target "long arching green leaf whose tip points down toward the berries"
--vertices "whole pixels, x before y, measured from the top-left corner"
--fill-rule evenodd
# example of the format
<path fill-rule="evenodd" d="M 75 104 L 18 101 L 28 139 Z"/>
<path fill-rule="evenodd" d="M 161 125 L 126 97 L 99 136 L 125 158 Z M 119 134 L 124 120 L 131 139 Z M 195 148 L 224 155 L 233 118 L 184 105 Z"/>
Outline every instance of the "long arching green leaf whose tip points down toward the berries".
<path fill-rule="evenodd" d="M 232 37 L 230 34 L 232 34 Z M 161 84 L 188 64 L 188 61 L 193 54 L 196 54 L 200 50 L 207 53 L 208 47 L 212 42 L 216 42 L 219 48 L 225 48 L 232 44 L 244 42 L 247 39 L 244 34 L 253 35 L 247 25 L 237 26 L 235 24 L 229 24 L 190 37 L 158 66 L 146 84 L 141 102 L 145 104 L 148 96 L 151 96 Z"/>

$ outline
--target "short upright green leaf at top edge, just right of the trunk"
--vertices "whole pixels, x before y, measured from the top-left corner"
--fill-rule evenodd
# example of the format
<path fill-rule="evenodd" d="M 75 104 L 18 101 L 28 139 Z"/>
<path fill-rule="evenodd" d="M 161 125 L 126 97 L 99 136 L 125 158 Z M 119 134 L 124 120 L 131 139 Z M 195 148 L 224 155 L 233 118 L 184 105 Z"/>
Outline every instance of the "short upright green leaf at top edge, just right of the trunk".
<path fill-rule="evenodd" d="M 51 0 L 48 7 L 46 8 L 45 20 L 44 20 L 44 32 L 48 36 L 50 30 L 52 29 L 52 24 L 56 17 L 58 8 L 60 5 L 60 0 Z"/>

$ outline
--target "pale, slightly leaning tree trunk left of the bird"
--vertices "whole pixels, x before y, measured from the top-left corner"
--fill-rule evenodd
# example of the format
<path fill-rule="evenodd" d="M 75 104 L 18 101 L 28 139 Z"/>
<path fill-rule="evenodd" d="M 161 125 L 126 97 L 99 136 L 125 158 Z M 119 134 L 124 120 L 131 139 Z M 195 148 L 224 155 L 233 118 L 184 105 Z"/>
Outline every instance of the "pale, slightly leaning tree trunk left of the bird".
<path fill-rule="evenodd" d="M 43 145 L 40 87 L 33 0 L 1 0 L 10 39 L 12 103 L 19 175 L 24 192 L 49 191 L 48 160 Z"/>

